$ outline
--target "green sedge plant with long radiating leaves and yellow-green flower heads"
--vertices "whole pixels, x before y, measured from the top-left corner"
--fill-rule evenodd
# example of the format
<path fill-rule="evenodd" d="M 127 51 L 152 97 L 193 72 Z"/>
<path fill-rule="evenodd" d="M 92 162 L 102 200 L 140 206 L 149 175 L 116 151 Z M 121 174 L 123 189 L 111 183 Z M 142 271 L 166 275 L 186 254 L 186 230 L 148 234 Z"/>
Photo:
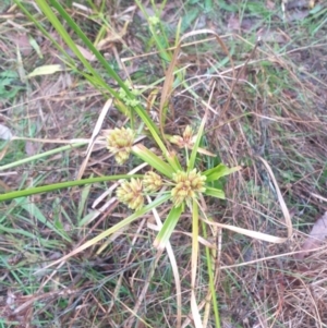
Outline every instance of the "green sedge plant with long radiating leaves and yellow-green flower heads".
<path fill-rule="evenodd" d="M 149 17 L 147 20 L 152 23 L 150 33 L 153 33 L 155 44 L 158 48 L 159 53 L 165 59 L 165 62 L 171 61 L 168 69 L 169 76 L 166 76 L 166 82 L 164 85 L 162 93 L 165 94 L 161 97 L 160 104 L 160 118 L 159 118 L 159 127 L 155 121 L 149 117 L 142 102 L 138 100 L 137 93 L 131 88 L 131 86 L 124 83 L 117 72 L 110 66 L 110 64 L 105 60 L 98 49 L 94 44 L 85 36 L 80 26 L 72 20 L 72 17 L 66 13 L 66 11 L 61 7 L 57 0 L 50 0 L 49 3 L 44 0 L 35 0 L 39 9 L 43 11 L 47 20 L 52 24 L 57 29 L 58 34 L 64 40 L 64 42 L 70 47 L 75 57 L 84 65 L 84 70 L 80 71 L 77 64 L 72 58 L 64 51 L 62 47 L 51 37 L 51 35 L 44 28 L 40 22 L 24 7 L 20 0 L 15 0 L 19 8 L 34 22 L 43 34 L 52 40 L 53 45 L 65 56 L 64 61 L 66 65 L 80 72 L 85 78 L 89 81 L 96 88 L 100 89 L 106 98 L 112 98 L 113 104 L 118 109 L 123 112 L 129 121 L 130 126 L 116 127 L 110 131 L 104 132 L 101 137 L 97 138 L 97 143 L 100 143 L 114 156 L 116 161 L 119 165 L 123 165 L 131 156 L 135 156 L 141 159 L 146 166 L 146 171 L 143 174 L 119 174 L 119 175 L 109 175 L 109 177 L 99 177 L 99 178 L 88 178 L 76 181 L 66 181 L 62 183 L 56 183 L 51 185 L 43 185 L 31 187 L 27 190 L 21 190 L 16 192 L 11 192 L 0 195 L 0 201 L 9 201 L 12 198 L 22 198 L 36 193 L 47 193 L 59 189 L 68 189 L 84 184 L 90 184 L 95 182 L 105 182 L 105 181 L 117 181 L 117 190 L 114 197 L 129 207 L 133 214 L 122 219 L 120 222 L 116 223 L 113 227 L 108 230 L 99 233 L 97 236 L 85 242 L 68 255 L 63 256 L 61 259 L 53 262 L 51 265 L 61 263 L 77 253 L 99 243 L 109 235 L 118 233 L 123 228 L 128 227 L 132 222 L 136 221 L 145 214 L 149 211 L 155 211 L 159 206 L 166 205 L 169 207 L 169 211 L 165 218 L 162 227 L 160 228 L 155 241 L 154 246 L 158 252 L 162 252 L 169 245 L 170 236 L 175 229 L 181 216 L 183 214 L 190 214 L 192 217 L 192 272 L 191 272 L 191 308 L 193 314 L 193 319 L 195 327 L 203 327 L 203 320 L 201 318 L 199 307 L 197 305 L 196 297 L 196 274 L 198 265 L 198 254 L 199 248 L 199 222 L 202 221 L 204 238 L 208 236 L 208 231 L 206 230 L 206 224 L 213 224 L 211 218 L 206 210 L 205 203 L 209 198 L 225 198 L 225 193 L 222 190 L 215 187 L 213 182 L 219 180 L 222 177 L 229 175 L 238 170 L 240 167 L 228 168 L 227 166 L 220 163 L 214 168 L 202 171 L 199 168 L 199 157 L 198 154 L 208 154 L 207 150 L 201 148 L 201 142 L 204 135 L 204 129 L 207 120 L 207 111 L 204 114 L 202 122 L 196 131 L 191 126 L 186 126 L 182 135 L 172 135 L 168 136 L 165 134 L 165 122 L 167 116 L 167 100 L 171 94 L 171 88 L 173 86 L 173 78 L 178 76 L 182 81 L 183 74 L 179 70 L 175 70 L 174 63 L 177 59 L 177 52 L 180 48 L 180 44 L 177 46 L 174 53 L 169 52 L 167 49 L 168 38 L 164 37 L 164 45 L 160 42 L 156 35 L 154 28 L 155 25 L 160 25 L 158 16 Z M 136 3 L 141 7 L 140 1 Z M 106 71 L 108 76 L 110 76 L 119 86 L 119 89 L 114 89 L 106 83 L 101 75 L 92 66 L 92 64 L 84 58 L 81 53 L 78 47 L 68 34 L 66 29 L 63 27 L 62 23 L 57 17 L 59 13 L 62 20 L 71 27 L 71 29 L 77 35 L 83 45 L 94 53 L 98 62 L 102 65 L 102 69 Z M 178 29 L 179 33 L 179 29 Z M 204 31 L 202 33 L 208 33 Z M 179 35 L 177 35 L 179 39 Z M 222 41 L 218 39 L 219 44 L 223 46 Z M 223 50 L 226 47 L 223 46 Z M 169 83 L 170 82 L 170 83 Z M 184 85 L 184 83 L 182 83 Z M 137 125 L 138 124 L 138 125 Z M 142 131 L 142 126 L 145 126 Z M 137 143 L 137 134 L 144 133 L 147 137 L 156 144 L 156 150 L 153 148 L 146 147 L 142 143 Z M 76 141 L 72 143 L 74 147 L 80 147 L 85 145 L 85 141 Z M 171 144 L 174 144 L 179 153 L 175 153 L 172 149 Z M 61 147 L 64 148 L 64 147 Z M 60 149 L 61 149 L 60 148 Z M 56 150 L 52 150 L 52 153 Z M 60 150 L 58 150 L 60 151 Z M 52 154 L 51 153 L 51 154 Z M 24 160 L 36 160 L 43 157 L 47 157 L 49 154 L 44 153 L 37 157 L 31 157 Z M 182 160 L 185 165 L 182 165 Z M 19 166 L 20 162 L 12 162 L 5 167 L 0 167 L 0 170 L 8 169 L 10 167 Z M 84 221 L 82 219 L 82 221 Z M 218 224 L 218 223 L 216 223 Z M 253 236 L 252 231 L 245 229 L 240 229 L 230 226 L 220 224 L 220 228 L 227 228 L 235 232 L 244 233 L 246 235 Z M 278 242 L 278 239 L 274 236 L 266 235 L 263 233 L 256 233 L 255 238 Z M 280 242 L 280 241 L 279 241 Z M 209 292 L 208 300 L 211 300 L 214 307 L 214 317 L 216 327 L 220 327 L 219 311 L 217 305 L 217 295 L 215 291 L 215 278 L 214 278 L 214 265 L 211 259 L 211 251 L 207 245 L 206 247 L 206 267 L 208 269 L 209 277 Z M 167 248 L 168 250 L 168 248 Z M 179 296 L 180 297 L 180 296 Z M 181 301 L 178 302 L 178 324 L 177 327 L 181 327 Z M 210 302 L 209 302 L 210 303 Z"/>

